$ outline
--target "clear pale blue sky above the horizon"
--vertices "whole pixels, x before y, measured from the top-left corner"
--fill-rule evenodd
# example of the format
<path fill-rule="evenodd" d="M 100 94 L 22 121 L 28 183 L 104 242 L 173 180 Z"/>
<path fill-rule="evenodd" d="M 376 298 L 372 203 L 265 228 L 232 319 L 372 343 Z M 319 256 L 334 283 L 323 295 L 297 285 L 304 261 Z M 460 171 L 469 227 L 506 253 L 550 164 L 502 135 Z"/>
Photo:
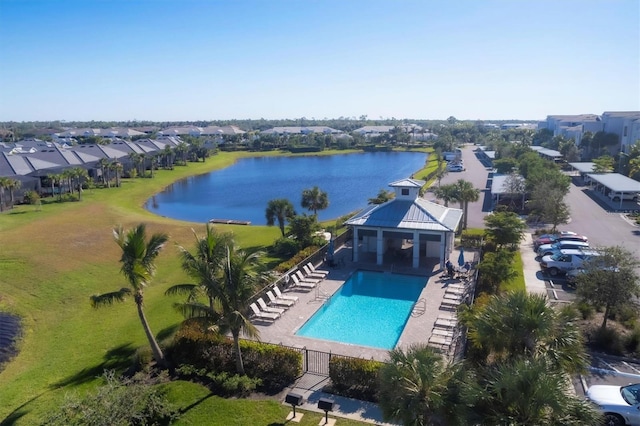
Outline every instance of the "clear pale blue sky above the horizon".
<path fill-rule="evenodd" d="M 0 121 L 638 110 L 638 0 L 0 0 Z"/>

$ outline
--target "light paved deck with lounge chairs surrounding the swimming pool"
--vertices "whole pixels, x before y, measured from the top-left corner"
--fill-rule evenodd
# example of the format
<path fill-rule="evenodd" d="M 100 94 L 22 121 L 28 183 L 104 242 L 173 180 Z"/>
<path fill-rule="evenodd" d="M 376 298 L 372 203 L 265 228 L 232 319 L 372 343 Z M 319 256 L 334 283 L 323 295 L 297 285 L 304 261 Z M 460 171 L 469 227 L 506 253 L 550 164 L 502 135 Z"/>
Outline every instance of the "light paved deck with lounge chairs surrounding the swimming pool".
<path fill-rule="evenodd" d="M 465 253 L 468 260 L 472 260 L 472 253 Z M 468 290 L 471 290 L 471 282 L 465 283 L 464 279 L 441 278 L 443 271 L 438 264 L 424 264 L 420 268 L 411 268 L 402 260 L 397 262 L 385 259 L 385 267 L 375 264 L 374 259 L 365 259 L 360 262 L 352 262 L 351 248 L 340 247 L 336 251 L 336 259 L 340 259 L 339 268 L 329 268 L 326 265 L 318 266 L 318 269 L 329 271 L 327 277 L 322 280 L 315 289 L 289 288 L 285 294 L 295 295 L 299 300 L 287 309 L 280 318 L 273 322 L 254 321 L 260 332 L 260 340 L 266 343 L 282 344 L 297 348 L 307 348 L 316 351 L 331 352 L 339 355 L 347 355 L 366 359 L 386 361 L 389 359 L 389 350 L 365 346 L 344 344 L 333 341 L 324 341 L 302 336 L 295 333 L 322 304 L 342 284 L 358 270 L 377 270 L 398 274 L 421 275 L 425 277 L 427 285 L 423 288 L 418 302 L 400 336 L 396 348 L 407 349 L 415 343 L 427 343 L 438 347 L 451 355 L 455 343 L 455 306 L 461 303 Z M 458 253 L 451 254 L 451 259 L 457 259 Z M 393 266 L 392 266 L 393 265 Z M 438 325 L 436 326 L 436 321 Z M 442 325 L 445 325 L 442 327 Z M 449 326 L 451 325 L 451 326 Z M 435 327 L 435 328 L 434 328 Z"/>

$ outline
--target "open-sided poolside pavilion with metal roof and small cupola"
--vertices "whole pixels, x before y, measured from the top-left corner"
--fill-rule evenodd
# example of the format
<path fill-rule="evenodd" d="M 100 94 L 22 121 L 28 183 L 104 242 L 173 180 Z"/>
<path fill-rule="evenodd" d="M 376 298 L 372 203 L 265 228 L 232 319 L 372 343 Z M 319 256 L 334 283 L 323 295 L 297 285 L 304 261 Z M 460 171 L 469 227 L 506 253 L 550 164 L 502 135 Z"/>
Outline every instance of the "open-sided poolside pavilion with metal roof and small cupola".
<path fill-rule="evenodd" d="M 376 264 L 382 266 L 390 253 L 411 259 L 413 268 L 420 266 L 422 258 L 437 258 L 444 265 L 463 212 L 421 198 L 424 184 L 415 179 L 392 182 L 393 200 L 370 206 L 345 222 L 353 229 L 354 262 L 375 253 Z"/>

